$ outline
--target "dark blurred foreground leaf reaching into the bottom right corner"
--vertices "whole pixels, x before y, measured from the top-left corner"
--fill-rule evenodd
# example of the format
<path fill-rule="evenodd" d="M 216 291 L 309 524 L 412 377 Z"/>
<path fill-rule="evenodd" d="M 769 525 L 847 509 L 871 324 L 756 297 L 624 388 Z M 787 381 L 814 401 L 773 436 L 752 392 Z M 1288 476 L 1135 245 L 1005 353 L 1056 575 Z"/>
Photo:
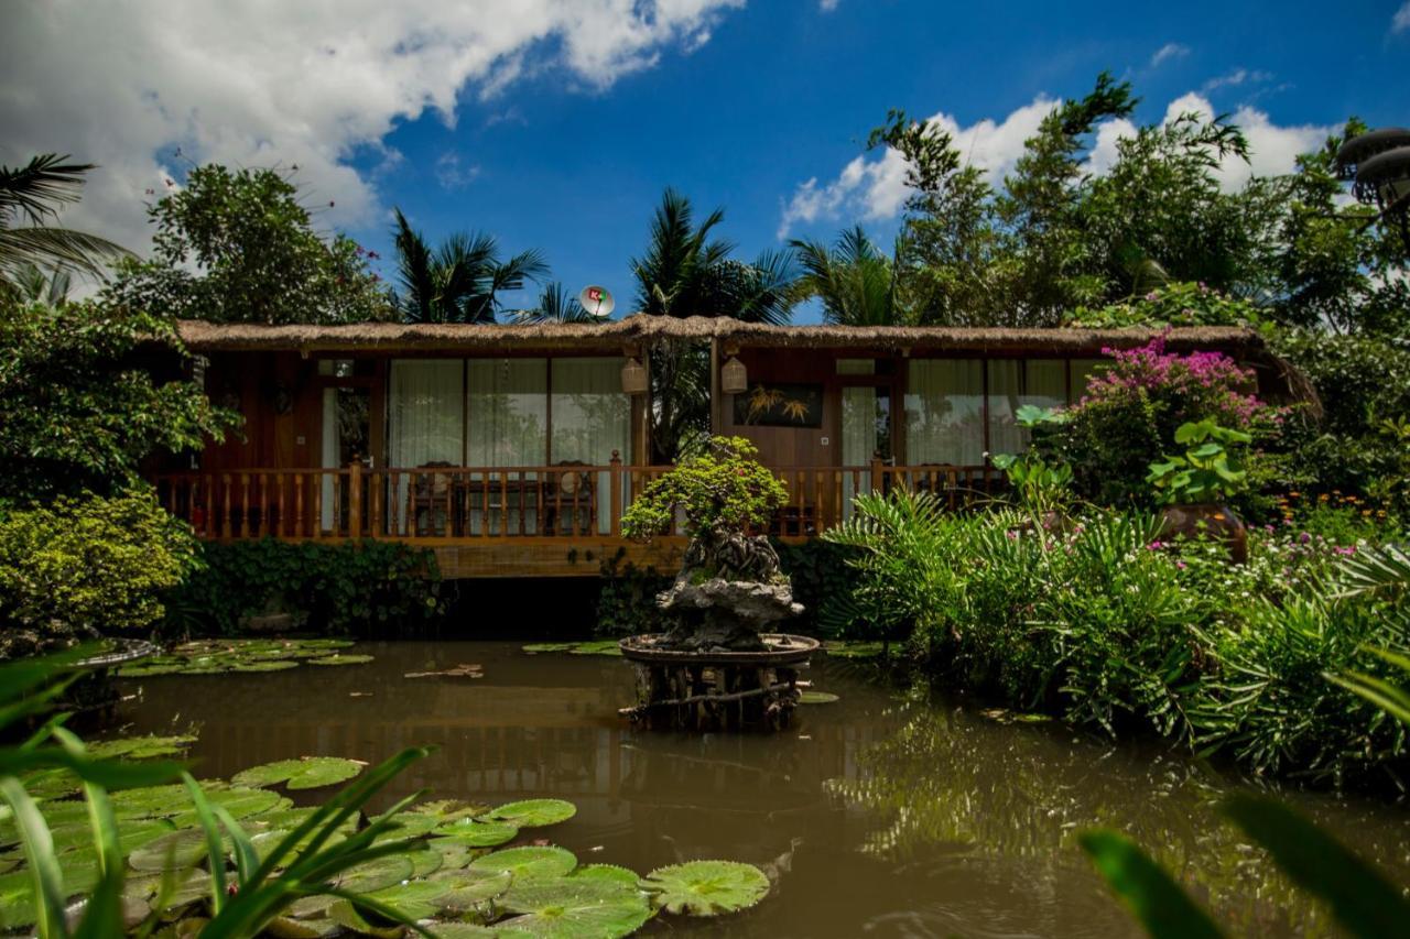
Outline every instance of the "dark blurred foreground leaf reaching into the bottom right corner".
<path fill-rule="evenodd" d="M 1324 900 L 1349 935 L 1403 935 L 1410 902 L 1378 870 L 1273 799 L 1234 795 L 1222 812 L 1262 845 L 1279 870 Z"/>

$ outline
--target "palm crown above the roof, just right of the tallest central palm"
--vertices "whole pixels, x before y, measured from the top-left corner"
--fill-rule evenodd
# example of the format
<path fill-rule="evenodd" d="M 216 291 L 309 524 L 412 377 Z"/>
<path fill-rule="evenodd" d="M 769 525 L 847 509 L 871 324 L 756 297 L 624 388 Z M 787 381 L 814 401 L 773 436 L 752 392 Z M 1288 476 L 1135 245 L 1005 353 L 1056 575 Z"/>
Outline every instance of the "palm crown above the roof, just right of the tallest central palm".
<path fill-rule="evenodd" d="M 826 321 L 843 326 L 905 321 L 897 295 L 897 265 L 877 251 L 862 226 L 843 231 L 830 248 L 821 241 L 791 244 L 804 271 L 794 288 L 795 297 L 821 300 Z"/>

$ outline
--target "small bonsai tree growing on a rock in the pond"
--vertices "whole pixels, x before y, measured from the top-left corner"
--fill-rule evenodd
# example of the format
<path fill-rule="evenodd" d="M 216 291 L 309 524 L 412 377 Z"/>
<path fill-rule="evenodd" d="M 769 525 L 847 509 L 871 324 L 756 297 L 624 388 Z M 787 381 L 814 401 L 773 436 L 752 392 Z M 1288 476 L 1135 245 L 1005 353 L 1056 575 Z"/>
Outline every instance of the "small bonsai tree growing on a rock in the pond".
<path fill-rule="evenodd" d="M 761 649 L 760 626 L 802 612 L 761 533 L 788 492 L 757 455 L 742 437 L 712 437 L 653 481 L 622 516 L 622 532 L 632 539 L 666 534 L 677 517 L 689 537 L 675 584 L 657 598 L 663 610 L 677 615 L 667 646 Z"/>

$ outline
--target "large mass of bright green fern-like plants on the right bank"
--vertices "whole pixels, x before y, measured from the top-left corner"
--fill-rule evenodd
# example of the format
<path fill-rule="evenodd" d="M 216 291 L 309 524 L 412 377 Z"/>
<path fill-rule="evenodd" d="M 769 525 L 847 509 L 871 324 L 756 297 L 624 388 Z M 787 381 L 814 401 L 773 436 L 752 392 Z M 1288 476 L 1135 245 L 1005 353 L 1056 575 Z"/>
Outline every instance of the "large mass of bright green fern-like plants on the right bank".
<path fill-rule="evenodd" d="M 1269 530 L 1272 529 L 1272 530 Z M 1159 539 L 1155 515 L 1091 510 L 1050 527 L 955 515 L 931 493 L 864 496 L 826 539 L 857 551 L 850 632 L 909 637 L 946 687 L 1111 736 L 1155 732 L 1258 773 L 1365 781 L 1404 768 L 1400 725 L 1325 674 L 1387 671 L 1403 595 L 1344 595 L 1359 548 L 1255 529 Z"/>

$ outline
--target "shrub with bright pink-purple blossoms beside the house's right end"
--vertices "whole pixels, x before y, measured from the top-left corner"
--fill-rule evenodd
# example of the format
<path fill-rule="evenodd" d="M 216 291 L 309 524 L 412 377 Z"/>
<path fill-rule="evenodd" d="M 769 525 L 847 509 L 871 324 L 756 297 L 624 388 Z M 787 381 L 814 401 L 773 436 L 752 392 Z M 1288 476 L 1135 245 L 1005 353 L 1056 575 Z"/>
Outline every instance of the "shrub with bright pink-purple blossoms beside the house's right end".
<path fill-rule="evenodd" d="M 1101 505 L 1151 505 L 1151 460 L 1184 423 L 1213 420 L 1251 434 L 1255 446 L 1277 430 L 1280 412 L 1252 393 L 1253 372 L 1221 352 L 1166 352 L 1159 337 L 1103 351 L 1111 365 L 1087 381 L 1086 393 L 1066 409 L 1067 420 L 1036 434 L 1034 444 L 1072 464 L 1079 492 Z"/>

